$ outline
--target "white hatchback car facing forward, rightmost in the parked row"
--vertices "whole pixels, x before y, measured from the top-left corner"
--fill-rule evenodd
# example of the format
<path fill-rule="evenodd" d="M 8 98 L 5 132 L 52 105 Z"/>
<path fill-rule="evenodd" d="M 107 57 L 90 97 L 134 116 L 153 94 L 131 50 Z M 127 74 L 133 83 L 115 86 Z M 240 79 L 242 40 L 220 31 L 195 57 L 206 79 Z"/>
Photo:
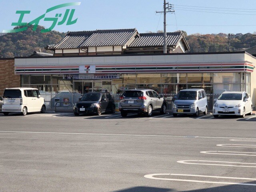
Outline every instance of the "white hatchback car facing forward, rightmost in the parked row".
<path fill-rule="evenodd" d="M 252 114 L 252 100 L 246 92 L 225 91 L 214 99 L 213 116 Z"/>

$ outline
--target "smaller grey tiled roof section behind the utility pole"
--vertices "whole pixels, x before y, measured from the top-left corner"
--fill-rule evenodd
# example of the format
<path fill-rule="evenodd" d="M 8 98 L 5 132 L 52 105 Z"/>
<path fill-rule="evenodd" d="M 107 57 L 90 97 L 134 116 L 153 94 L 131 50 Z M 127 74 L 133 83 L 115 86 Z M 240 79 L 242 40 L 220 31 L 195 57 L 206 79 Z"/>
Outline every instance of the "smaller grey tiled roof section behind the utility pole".
<path fill-rule="evenodd" d="M 182 38 L 182 32 L 171 32 L 166 34 L 166 46 L 176 46 Z M 163 46 L 163 33 L 140 33 L 140 36 L 128 45 L 128 47 Z"/>

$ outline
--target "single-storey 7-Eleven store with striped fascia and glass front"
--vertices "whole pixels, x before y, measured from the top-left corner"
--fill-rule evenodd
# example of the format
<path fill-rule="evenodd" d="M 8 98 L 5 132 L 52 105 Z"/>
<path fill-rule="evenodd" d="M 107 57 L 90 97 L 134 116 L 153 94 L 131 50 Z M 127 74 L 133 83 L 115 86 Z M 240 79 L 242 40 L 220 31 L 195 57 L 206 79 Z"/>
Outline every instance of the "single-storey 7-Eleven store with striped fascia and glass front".
<path fill-rule="evenodd" d="M 124 90 L 150 88 L 169 104 L 186 88 L 203 88 L 209 109 L 222 92 L 246 91 L 256 104 L 256 58 L 246 52 L 17 57 L 15 74 L 22 87 L 38 88 L 47 108 L 77 102 L 86 92 L 111 92 L 116 102 Z M 68 107 L 67 104 L 57 104 Z"/>

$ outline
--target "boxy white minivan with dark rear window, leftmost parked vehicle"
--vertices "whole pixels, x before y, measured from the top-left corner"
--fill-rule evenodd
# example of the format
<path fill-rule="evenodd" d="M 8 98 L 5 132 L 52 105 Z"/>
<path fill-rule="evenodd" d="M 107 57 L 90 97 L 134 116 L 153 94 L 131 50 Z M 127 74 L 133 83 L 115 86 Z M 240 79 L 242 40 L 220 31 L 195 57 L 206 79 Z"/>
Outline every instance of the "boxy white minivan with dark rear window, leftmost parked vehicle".
<path fill-rule="evenodd" d="M 29 112 L 46 111 L 44 98 L 35 88 L 6 88 L 3 95 L 2 112 L 21 112 L 26 115 Z"/>

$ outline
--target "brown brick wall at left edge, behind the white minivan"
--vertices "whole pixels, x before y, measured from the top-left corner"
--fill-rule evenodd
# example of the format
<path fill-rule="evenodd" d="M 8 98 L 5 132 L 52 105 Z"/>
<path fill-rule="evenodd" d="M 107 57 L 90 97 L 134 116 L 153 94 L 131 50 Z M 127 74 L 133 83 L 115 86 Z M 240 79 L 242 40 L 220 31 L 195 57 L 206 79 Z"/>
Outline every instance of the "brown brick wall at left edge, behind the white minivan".
<path fill-rule="evenodd" d="M 0 59 L 0 66 L 0 96 L 2 96 L 5 88 L 20 87 L 20 75 L 14 74 L 14 58 Z"/>

